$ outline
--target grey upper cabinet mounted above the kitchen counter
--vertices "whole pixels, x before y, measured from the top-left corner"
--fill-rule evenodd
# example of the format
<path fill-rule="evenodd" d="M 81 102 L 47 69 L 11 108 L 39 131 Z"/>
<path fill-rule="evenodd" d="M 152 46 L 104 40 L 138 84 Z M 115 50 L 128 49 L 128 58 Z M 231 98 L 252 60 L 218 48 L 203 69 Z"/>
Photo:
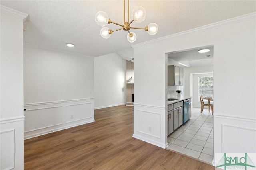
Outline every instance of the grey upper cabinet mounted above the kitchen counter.
<path fill-rule="evenodd" d="M 168 66 L 168 86 L 183 86 L 183 68 Z"/>

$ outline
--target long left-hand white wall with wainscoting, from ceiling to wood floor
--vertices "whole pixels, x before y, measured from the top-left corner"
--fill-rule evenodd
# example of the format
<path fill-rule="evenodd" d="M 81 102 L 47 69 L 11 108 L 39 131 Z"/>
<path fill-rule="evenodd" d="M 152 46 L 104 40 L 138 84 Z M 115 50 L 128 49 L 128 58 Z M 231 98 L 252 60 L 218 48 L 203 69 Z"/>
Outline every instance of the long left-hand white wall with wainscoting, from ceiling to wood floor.
<path fill-rule="evenodd" d="M 94 121 L 94 58 L 24 45 L 25 139 Z"/>

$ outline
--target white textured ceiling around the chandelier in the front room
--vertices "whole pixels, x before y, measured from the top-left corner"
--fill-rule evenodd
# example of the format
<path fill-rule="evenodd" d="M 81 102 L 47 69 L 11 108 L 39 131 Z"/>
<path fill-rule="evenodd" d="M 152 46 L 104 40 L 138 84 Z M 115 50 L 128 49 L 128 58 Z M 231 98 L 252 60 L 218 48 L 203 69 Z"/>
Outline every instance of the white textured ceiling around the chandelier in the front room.
<path fill-rule="evenodd" d="M 93 57 L 113 52 L 121 55 L 120 51 L 137 43 L 256 11 L 255 0 L 130 0 L 130 14 L 135 6 L 143 6 L 147 12 L 145 21 L 132 26 L 145 27 L 154 22 L 158 24 L 158 33 L 151 36 L 144 30 L 133 29 L 137 40 L 129 43 L 127 32 L 122 30 L 103 39 L 101 27 L 95 23 L 95 14 L 101 10 L 112 21 L 123 23 L 122 0 L 1 0 L 0 3 L 29 15 L 24 42 Z M 113 24 L 107 27 L 120 28 Z M 66 43 L 74 43 L 75 47 L 68 48 Z"/>

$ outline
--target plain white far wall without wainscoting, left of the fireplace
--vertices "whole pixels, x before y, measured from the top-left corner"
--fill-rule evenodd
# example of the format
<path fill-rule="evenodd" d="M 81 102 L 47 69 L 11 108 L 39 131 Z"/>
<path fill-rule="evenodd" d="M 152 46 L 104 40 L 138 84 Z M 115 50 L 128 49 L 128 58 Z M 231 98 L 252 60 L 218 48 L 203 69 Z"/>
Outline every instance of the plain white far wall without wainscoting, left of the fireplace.
<path fill-rule="evenodd" d="M 94 58 L 95 109 L 126 104 L 126 60 L 111 53 Z"/>

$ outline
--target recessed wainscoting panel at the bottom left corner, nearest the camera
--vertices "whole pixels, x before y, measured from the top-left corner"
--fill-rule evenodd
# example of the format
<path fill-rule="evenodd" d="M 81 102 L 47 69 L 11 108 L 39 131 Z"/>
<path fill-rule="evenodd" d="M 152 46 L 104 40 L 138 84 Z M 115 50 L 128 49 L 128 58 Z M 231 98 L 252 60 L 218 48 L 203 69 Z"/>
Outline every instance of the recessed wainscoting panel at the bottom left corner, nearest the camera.
<path fill-rule="evenodd" d="M 14 129 L 5 130 L 0 132 L 0 156 L 1 157 L 1 170 L 10 170 L 15 165 L 15 131 Z"/>

